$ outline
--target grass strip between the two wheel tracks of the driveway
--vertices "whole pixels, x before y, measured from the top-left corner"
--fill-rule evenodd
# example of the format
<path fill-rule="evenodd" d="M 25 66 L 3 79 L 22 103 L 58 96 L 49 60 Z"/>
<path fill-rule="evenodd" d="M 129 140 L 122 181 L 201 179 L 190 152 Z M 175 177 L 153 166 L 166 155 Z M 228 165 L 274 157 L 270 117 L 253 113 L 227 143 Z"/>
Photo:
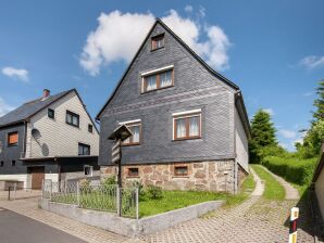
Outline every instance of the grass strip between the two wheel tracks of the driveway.
<path fill-rule="evenodd" d="M 265 171 L 260 165 L 251 165 L 261 180 L 264 180 L 264 193 L 263 197 L 267 200 L 284 200 L 285 189 L 283 186 L 276 181 L 276 179 Z"/>

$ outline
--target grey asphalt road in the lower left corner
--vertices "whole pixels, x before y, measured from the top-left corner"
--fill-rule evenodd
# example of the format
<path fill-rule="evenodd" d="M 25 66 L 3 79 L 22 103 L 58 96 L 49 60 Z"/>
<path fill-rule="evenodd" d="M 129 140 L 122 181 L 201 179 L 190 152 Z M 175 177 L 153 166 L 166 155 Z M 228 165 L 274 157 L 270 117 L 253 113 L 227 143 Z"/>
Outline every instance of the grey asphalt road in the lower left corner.
<path fill-rule="evenodd" d="M 61 230 L 0 208 L 0 243 L 86 243 Z"/>

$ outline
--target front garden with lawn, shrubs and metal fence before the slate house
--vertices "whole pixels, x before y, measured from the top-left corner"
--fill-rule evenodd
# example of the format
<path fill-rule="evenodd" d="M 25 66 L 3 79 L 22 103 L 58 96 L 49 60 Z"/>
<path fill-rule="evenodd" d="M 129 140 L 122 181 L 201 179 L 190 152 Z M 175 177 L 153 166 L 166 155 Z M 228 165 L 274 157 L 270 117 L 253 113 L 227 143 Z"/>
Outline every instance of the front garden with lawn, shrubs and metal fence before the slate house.
<path fill-rule="evenodd" d="M 254 187 L 252 175 L 249 175 L 236 195 L 209 191 L 165 191 L 158 186 L 142 187 L 139 181 L 117 190 L 114 177 L 110 177 L 97 184 L 91 184 L 89 180 L 51 183 L 45 187 L 43 196 L 52 202 L 75 204 L 80 208 L 117 213 L 117 199 L 121 195 L 121 215 L 140 218 L 217 200 L 225 201 L 225 206 L 230 207 L 245 201 Z"/>

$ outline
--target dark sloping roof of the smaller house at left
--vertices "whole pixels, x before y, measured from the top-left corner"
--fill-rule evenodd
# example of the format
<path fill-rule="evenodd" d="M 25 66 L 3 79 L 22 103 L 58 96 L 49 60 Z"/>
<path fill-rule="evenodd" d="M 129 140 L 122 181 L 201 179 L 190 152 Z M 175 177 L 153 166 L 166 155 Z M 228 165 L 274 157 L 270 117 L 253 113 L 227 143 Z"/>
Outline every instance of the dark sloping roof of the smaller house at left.
<path fill-rule="evenodd" d="M 57 93 L 54 95 L 50 95 L 46 100 L 42 100 L 42 98 L 39 98 L 33 101 L 28 101 L 23 105 L 18 106 L 17 108 L 11 111 L 10 113 L 5 114 L 4 116 L 1 116 L 0 127 L 25 122 L 36 113 L 40 112 L 45 107 L 49 106 L 50 104 L 60 100 L 61 98 L 65 97 L 67 93 L 72 91 L 75 91 L 75 89 L 71 89 L 67 91 Z"/>

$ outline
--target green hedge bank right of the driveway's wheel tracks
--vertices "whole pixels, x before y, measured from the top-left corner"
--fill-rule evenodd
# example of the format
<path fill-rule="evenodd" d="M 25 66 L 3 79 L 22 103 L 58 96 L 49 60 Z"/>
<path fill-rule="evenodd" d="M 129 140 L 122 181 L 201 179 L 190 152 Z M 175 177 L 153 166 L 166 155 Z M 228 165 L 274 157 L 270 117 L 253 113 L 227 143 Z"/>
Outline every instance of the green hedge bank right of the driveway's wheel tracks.
<path fill-rule="evenodd" d="M 306 186 L 312 180 L 317 158 L 302 159 L 298 157 L 267 156 L 262 164 L 287 181 Z"/>

